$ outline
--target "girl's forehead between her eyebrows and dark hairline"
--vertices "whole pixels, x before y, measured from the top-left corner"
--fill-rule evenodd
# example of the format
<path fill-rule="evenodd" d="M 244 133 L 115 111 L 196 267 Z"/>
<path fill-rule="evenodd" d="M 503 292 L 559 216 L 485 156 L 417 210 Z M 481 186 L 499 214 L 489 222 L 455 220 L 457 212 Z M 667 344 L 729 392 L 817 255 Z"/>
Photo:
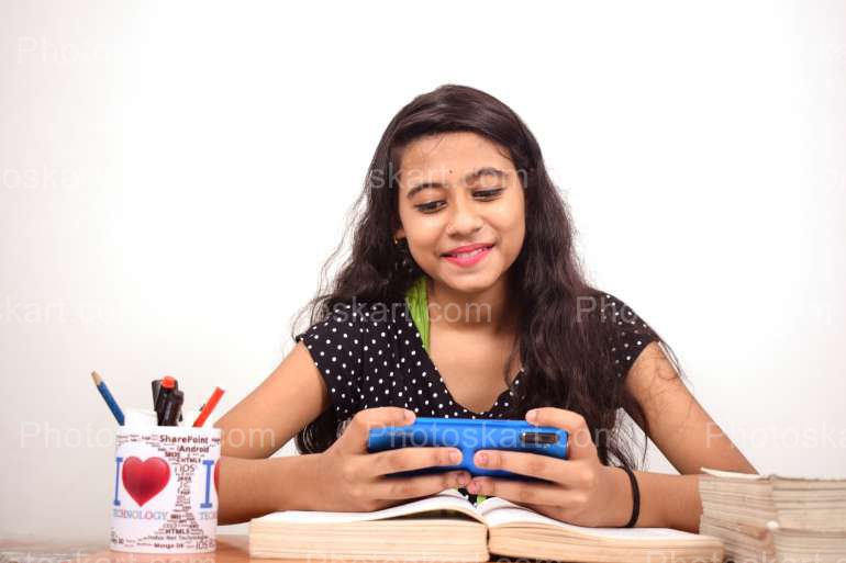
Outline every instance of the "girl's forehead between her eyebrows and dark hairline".
<path fill-rule="evenodd" d="M 476 168 L 491 166 L 507 172 L 514 169 L 508 150 L 470 132 L 443 133 L 411 142 L 402 151 L 400 183 L 414 179 L 450 180 Z"/>

